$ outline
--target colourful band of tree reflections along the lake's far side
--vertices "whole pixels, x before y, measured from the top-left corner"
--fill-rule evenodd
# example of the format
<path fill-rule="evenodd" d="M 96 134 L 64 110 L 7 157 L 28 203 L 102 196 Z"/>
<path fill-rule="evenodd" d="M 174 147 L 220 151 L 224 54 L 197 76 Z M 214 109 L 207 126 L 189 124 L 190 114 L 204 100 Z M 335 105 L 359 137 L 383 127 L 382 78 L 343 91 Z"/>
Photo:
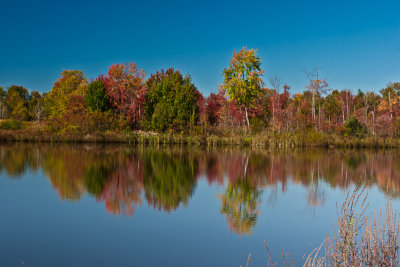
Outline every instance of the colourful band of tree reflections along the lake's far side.
<path fill-rule="evenodd" d="M 11 179 L 41 169 L 61 199 L 79 201 L 88 193 L 111 214 L 133 215 L 146 201 L 172 212 L 187 206 L 199 179 L 224 187 L 220 212 L 230 229 L 250 234 L 262 192 L 278 200 L 287 184 L 303 186 L 310 207 L 323 206 L 325 186 L 376 185 L 385 194 L 400 192 L 397 151 L 372 150 L 201 150 L 134 148 L 117 145 L 2 144 L 0 170 Z M 279 189 L 280 188 L 280 189 Z"/>

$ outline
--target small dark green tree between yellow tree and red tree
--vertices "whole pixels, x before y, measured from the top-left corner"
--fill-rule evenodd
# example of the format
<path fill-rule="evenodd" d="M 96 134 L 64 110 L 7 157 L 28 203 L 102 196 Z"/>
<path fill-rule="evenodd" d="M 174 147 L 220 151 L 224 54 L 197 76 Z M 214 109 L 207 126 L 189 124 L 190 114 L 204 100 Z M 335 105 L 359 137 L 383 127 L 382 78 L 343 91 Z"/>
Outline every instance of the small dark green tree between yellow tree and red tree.
<path fill-rule="evenodd" d="M 85 101 L 90 111 L 104 112 L 110 109 L 110 98 L 101 79 L 97 79 L 89 84 Z"/>

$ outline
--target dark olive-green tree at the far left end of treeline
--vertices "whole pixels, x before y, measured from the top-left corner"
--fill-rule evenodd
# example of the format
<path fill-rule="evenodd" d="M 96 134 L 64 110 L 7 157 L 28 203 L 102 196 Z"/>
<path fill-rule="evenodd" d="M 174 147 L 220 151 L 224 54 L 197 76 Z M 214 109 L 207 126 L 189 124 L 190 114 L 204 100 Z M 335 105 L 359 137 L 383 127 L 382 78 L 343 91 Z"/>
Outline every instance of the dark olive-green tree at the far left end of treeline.
<path fill-rule="evenodd" d="M 28 101 L 29 94 L 26 88 L 17 85 L 8 87 L 6 93 L 6 105 L 12 119 L 29 119 Z"/>

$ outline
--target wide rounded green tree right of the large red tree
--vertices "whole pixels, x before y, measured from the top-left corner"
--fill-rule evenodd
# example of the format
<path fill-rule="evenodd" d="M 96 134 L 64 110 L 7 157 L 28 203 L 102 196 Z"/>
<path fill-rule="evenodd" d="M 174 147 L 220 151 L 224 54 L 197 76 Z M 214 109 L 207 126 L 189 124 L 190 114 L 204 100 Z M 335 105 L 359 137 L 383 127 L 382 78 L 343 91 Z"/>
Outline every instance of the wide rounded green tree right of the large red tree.
<path fill-rule="evenodd" d="M 169 68 L 157 71 L 147 80 L 145 100 L 147 126 L 165 131 L 184 129 L 199 120 L 199 94 L 189 75 Z"/>

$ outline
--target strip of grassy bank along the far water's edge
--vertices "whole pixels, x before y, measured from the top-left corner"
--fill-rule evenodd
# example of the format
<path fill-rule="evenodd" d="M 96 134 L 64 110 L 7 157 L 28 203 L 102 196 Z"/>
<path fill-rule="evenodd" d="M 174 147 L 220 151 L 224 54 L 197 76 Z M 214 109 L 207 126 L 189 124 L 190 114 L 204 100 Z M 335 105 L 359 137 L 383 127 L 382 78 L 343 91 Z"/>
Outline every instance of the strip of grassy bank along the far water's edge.
<path fill-rule="evenodd" d="M 50 132 L 34 125 L 20 129 L 0 129 L 0 142 L 62 142 L 62 143 L 130 143 L 148 145 L 195 145 L 195 146 L 250 146 L 260 148 L 294 147 L 346 147 L 346 148 L 397 148 L 399 138 L 357 138 L 325 134 L 317 131 L 257 134 L 180 134 L 143 131 L 122 132 Z"/>

